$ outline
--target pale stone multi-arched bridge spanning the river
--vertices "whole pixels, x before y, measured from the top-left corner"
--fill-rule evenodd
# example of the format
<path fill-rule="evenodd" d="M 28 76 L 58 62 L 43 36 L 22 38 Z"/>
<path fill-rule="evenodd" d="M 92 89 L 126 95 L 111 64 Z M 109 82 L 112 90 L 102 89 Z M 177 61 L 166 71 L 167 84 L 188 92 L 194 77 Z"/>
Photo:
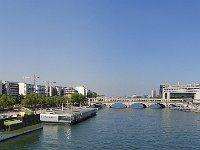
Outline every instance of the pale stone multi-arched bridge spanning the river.
<path fill-rule="evenodd" d="M 113 97 L 97 97 L 97 98 L 89 98 L 89 105 L 106 105 L 107 107 L 111 107 L 111 105 L 116 103 L 122 103 L 129 107 L 135 103 L 141 103 L 146 107 L 149 107 L 153 104 L 161 104 L 164 107 L 169 107 L 170 105 L 181 105 L 184 103 L 184 99 L 157 99 L 157 98 L 113 98 Z"/>

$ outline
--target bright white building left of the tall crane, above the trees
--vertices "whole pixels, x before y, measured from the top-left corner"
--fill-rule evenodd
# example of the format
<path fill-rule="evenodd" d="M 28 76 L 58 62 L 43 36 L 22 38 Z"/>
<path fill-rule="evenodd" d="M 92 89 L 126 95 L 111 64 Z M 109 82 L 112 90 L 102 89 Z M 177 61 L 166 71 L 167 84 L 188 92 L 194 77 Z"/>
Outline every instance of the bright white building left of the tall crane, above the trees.
<path fill-rule="evenodd" d="M 19 83 L 19 94 L 20 95 L 28 95 L 34 93 L 34 85 L 27 83 Z"/>

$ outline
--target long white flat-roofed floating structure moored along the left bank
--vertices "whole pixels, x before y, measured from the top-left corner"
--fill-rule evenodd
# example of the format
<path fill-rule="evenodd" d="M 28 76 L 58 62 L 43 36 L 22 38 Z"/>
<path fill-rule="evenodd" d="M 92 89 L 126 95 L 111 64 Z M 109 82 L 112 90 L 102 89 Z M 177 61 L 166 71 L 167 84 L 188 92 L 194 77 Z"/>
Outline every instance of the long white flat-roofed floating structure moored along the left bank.
<path fill-rule="evenodd" d="M 40 121 L 44 123 L 77 124 L 95 116 L 96 108 L 74 107 L 71 109 L 46 111 L 40 114 Z"/>

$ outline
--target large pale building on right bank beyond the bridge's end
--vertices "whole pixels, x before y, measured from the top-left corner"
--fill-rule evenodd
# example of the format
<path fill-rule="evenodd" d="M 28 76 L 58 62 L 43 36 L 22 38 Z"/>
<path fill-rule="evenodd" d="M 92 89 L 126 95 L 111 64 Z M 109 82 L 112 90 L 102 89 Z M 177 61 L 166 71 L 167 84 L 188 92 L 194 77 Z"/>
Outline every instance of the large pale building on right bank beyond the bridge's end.
<path fill-rule="evenodd" d="M 163 99 L 170 98 L 193 98 L 200 99 L 200 84 L 162 84 L 160 85 L 160 96 Z"/>

